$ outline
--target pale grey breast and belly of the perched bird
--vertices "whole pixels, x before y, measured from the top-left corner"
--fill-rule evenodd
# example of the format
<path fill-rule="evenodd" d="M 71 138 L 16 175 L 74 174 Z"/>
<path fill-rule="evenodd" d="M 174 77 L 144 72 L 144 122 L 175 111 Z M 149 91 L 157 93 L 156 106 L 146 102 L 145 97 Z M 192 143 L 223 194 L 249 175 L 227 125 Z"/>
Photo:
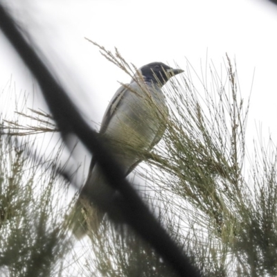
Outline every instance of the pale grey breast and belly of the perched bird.
<path fill-rule="evenodd" d="M 163 135 L 161 125 L 164 125 L 163 115 L 167 114 L 166 99 L 157 85 L 132 82 L 127 86 L 129 89 L 105 134 L 123 147 L 146 150 Z"/>

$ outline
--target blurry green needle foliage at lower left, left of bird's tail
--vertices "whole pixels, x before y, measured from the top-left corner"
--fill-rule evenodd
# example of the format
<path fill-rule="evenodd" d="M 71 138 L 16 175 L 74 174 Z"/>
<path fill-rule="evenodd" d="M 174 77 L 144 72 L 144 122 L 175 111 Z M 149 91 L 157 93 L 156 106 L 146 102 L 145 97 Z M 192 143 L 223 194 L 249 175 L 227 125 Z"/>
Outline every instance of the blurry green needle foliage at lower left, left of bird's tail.
<path fill-rule="evenodd" d="M 21 132 L 17 136 L 18 120 L 10 123 L 13 129 L 6 123 L 0 136 L 0 276 L 59 276 L 69 249 L 62 229 L 66 210 L 60 204 L 68 184 L 55 170 L 62 148 L 30 159 L 35 141 L 22 139 Z"/>

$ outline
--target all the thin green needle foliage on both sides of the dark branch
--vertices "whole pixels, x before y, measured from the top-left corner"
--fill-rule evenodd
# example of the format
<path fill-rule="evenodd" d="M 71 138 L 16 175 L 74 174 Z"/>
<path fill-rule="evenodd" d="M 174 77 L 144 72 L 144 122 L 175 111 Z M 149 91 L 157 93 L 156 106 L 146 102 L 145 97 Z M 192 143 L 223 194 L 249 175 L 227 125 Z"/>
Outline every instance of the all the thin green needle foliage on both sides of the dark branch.
<path fill-rule="evenodd" d="M 111 53 L 93 44 L 110 62 L 134 75 L 136 67 L 117 50 Z M 153 107 L 153 116 L 162 118 L 166 132 L 152 150 L 128 150 L 143 161 L 133 182 L 140 182 L 137 188 L 145 202 L 205 276 L 276 276 L 276 146 L 272 141 L 255 143 L 253 157 L 247 157 L 249 101 L 240 95 L 228 56 L 220 74 L 211 65 L 200 75 L 188 63 L 185 73 L 163 88 L 168 114 Z M 0 141 L 0 272 L 175 276 L 134 231 L 107 216 L 98 233 L 69 247 L 72 238 L 64 226 L 67 190 L 55 170 L 63 148 L 47 170 L 42 162 L 28 159 L 26 150 L 36 148 L 30 135 L 57 132 L 51 116 L 30 113 L 18 116 L 33 120 L 33 125 L 1 123 L 8 135 Z M 24 143 L 18 136 L 24 136 Z"/>

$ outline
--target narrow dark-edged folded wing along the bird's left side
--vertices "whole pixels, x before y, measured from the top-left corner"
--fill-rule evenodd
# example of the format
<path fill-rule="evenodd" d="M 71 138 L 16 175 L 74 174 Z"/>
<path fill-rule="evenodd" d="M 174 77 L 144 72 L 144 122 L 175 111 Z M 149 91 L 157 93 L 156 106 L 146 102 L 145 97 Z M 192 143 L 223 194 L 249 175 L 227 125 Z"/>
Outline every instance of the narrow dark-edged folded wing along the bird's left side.
<path fill-rule="evenodd" d="M 114 116 L 114 112 L 116 111 L 116 109 L 118 109 L 118 107 L 120 107 L 120 105 L 122 105 L 123 96 L 125 95 L 127 90 L 128 90 L 127 84 L 124 84 L 116 91 L 116 93 L 114 93 L 114 96 L 113 98 L 111 98 L 111 102 L 109 102 L 109 105 L 103 116 L 102 123 L 100 126 L 100 132 L 99 132 L 100 134 L 104 134 L 106 132 L 109 122 L 111 118 Z M 91 164 L 89 166 L 89 172 L 93 170 L 93 167 L 95 166 L 95 164 L 96 164 L 96 159 L 93 156 L 91 159 Z"/>

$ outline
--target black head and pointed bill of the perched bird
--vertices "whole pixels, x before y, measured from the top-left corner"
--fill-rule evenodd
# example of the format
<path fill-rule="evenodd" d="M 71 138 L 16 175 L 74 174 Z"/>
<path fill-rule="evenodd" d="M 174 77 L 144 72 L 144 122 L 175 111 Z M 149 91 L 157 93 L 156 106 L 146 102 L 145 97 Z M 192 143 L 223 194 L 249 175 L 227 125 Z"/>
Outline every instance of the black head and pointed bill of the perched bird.
<path fill-rule="evenodd" d="M 139 69 L 139 75 L 143 77 L 145 82 L 153 82 L 154 84 L 158 84 L 159 87 L 166 84 L 171 77 L 182 72 L 184 72 L 184 70 L 172 69 L 162 62 L 152 62 Z"/>

